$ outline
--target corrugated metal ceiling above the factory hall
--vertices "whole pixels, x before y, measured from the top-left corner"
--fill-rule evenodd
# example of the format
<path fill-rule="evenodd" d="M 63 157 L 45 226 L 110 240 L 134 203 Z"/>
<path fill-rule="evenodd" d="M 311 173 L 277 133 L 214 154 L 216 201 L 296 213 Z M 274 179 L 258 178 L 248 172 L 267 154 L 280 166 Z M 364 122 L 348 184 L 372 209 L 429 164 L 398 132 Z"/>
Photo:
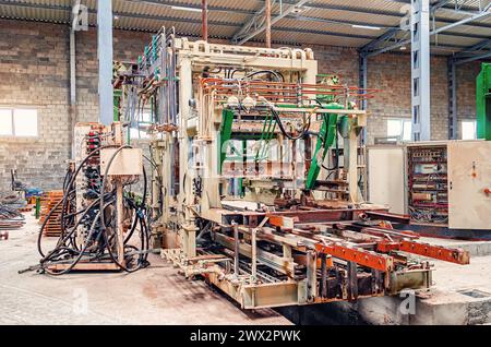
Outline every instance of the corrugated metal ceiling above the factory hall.
<path fill-rule="evenodd" d="M 73 0 L 0 0 L 0 17 L 69 23 Z M 277 1 L 280 2 L 279 0 Z M 289 5 L 295 0 L 283 0 Z M 409 1 L 404 0 L 312 0 L 298 13 L 278 21 L 273 27 L 273 40 L 278 43 L 362 47 L 385 31 L 397 27 Z M 434 1 L 432 1 L 434 2 Z M 467 0 L 465 5 L 478 10 L 491 0 Z M 96 0 L 81 0 L 89 9 L 89 24 L 96 25 Z M 462 1 L 460 1 L 462 3 Z M 252 15 L 264 5 L 264 0 L 209 0 L 208 32 L 212 37 L 231 38 Z M 115 27 L 122 29 L 158 31 L 175 26 L 183 35 L 199 36 L 201 0 L 113 0 L 118 20 Z M 279 5 L 274 12 L 280 11 Z M 467 17 L 448 9 L 436 12 L 434 26 L 441 27 Z M 369 25 L 372 29 L 354 25 Z M 376 29 L 378 28 L 378 29 Z M 262 36 L 258 36 L 261 39 Z M 451 53 L 491 38 L 491 15 L 468 25 L 452 28 L 433 37 L 440 51 Z"/>

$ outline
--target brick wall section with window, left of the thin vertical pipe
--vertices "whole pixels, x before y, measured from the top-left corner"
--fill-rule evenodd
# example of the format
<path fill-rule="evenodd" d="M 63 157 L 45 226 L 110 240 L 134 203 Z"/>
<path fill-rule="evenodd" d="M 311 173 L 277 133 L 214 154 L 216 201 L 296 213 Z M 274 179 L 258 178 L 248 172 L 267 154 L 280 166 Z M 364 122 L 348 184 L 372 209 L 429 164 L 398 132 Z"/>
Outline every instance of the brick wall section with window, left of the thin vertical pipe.
<path fill-rule="evenodd" d="M 36 139 L 0 136 L 0 190 L 10 170 L 29 186 L 57 187 L 70 152 L 69 31 L 0 21 L 0 107 L 38 110 Z"/>

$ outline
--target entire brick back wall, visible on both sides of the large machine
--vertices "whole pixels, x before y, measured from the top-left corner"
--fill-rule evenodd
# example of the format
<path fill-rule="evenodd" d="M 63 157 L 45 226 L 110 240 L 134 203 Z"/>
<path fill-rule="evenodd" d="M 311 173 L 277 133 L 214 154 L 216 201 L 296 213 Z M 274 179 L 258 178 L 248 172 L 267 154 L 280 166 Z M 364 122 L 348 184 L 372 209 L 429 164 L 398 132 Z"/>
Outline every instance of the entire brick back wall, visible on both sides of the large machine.
<path fill-rule="evenodd" d="M 64 25 L 0 20 L 0 107 L 38 109 L 39 137 L 0 137 L 0 190 L 10 187 L 10 169 L 28 186 L 57 189 L 70 157 L 69 31 Z M 143 51 L 149 34 L 115 31 L 115 59 L 131 60 Z M 339 47 L 312 47 L 320 73 L 338 73 L 358 84 L 358 53 Z M 98 119 L 97 34 L 76 34 L 77 121 Z M 446 59 L 432 58 L 432 134 L 447 136 Z M 386 120 L 410 118 L 410 60 L 408 55 L 380 55 L 368 62 L 369 87 L 381 88 L 369 101 L 369 143 L 386 136 Z M 457 69 L 458 117 L 475 118 L 475 80 L 479 64 Z"/>

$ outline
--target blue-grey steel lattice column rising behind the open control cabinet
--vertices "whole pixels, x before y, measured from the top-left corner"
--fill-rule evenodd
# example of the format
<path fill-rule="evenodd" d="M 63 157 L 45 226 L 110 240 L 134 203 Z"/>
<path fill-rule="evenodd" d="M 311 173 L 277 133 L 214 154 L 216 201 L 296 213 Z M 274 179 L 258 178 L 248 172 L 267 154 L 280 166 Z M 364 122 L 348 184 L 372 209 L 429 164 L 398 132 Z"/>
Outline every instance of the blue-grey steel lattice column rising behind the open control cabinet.
<path fill-rule="evenodd" d="M 430 0 L 411 0 L 412 140 L 431 140 Z"/>

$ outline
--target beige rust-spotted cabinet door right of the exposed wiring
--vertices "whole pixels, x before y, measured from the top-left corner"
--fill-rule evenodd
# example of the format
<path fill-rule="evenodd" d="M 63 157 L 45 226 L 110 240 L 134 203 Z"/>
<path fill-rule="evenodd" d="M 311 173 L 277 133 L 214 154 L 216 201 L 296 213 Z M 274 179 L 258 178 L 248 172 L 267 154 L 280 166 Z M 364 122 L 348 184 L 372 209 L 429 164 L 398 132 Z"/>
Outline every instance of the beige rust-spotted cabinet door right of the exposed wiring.
<path fill-rule="evenodd" d="M 448 226 L 491 229 L 491 141 L 448 143 Z"/>

